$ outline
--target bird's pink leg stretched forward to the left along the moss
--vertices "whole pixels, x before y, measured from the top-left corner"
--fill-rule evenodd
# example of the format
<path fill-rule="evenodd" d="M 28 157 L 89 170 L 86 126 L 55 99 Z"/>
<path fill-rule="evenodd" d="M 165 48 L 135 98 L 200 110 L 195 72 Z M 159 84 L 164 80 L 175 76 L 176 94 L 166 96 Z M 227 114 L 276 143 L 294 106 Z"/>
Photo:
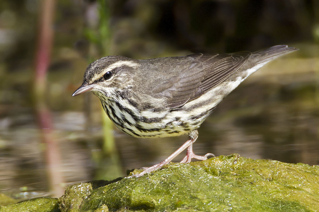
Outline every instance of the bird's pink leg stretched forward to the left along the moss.
<path fill-rule="evenodd" d="M 143 176 L 146 173 L 150 173 L 152 171 L 155 171 L 161 167 L 163 167 L 164 165 L 168 164 L 170 161 L 172 161 L 177 155 L 179 155 L 182 151 L 184 151 L 187 147 L 191 146 L 197 139 L 198 137 L 198 132 L 197 130 L 193 130 L 189 133 L 189 140 L 187 140 L 181 147 L 179 147 L 173 154 L 171 154 L 170 156 L 168 156 L 164 161 L 155 164 L 154 166 L 151 166 L 149 168 L 144 168 L 143 172 L 139 173 L 139 174 L 133 174 L 131 176 L 129 176 L 128 178 L 131 177 L 140 177 Z M 191 148 L 192 149 L 192 148 Z M 193 151 L 192 151 L 193 152 Z M 195 155 L 195 154 L 194 154 Z M 206 158 L 207 159 L 207 158 Z"/>

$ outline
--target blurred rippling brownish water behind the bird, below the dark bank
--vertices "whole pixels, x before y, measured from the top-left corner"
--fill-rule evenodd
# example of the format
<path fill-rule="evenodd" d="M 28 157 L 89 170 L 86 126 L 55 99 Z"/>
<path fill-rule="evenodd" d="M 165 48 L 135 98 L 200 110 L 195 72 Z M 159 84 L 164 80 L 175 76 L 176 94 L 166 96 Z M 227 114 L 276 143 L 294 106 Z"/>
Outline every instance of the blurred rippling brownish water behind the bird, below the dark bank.
<path fill-rule="evenodd" d="M 199 128 L 193 145 L 196 154 L 238 153 L 254 159 L 319 163 L 318 72 L 265 78 L 257 75 L 246 80 L 223 100 Z M 71 98 L 70 94 L 63 98 Z M 114 129 L 118 160 L 114 163 L 108 156 L 96 159 L 102 152 L 101 123 L 96 118 L 101 112 L 99 100 L 89 95 L 94 111 L 89 130 L 85 130 L 82 104 L 76 103 L 74 110 L 52 110 L 66 183 L 125 176 L 126 169 L 164 160 L 187 140 L 187 136 L 137 139 Z M 45 195 L 45 147 L 32 106 L 3 104 L 0 109 L 0 193 L 19 198 Z M 119 175 L 112 175 L 114 169 Z M 112 174 L 105 176 L 108 173 Z"/>

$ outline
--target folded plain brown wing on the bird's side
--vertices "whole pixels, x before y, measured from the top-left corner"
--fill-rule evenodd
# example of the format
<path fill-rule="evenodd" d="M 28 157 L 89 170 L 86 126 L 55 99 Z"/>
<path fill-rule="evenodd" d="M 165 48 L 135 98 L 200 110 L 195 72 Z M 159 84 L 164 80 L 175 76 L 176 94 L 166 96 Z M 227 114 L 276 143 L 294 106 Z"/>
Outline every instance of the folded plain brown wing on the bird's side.
<path fill-rule="evenodd" d="M 185 56 L 189 57 L 185 58 L 188 62 L 179 65 L 183 66 L 179 75 L 172 77 L 156 90 L 159 95 L 167 97 L 171 109 L 180 107 L 224 82 L 241 67 L 250 54 L 247 51 L 235 54 Z"/>

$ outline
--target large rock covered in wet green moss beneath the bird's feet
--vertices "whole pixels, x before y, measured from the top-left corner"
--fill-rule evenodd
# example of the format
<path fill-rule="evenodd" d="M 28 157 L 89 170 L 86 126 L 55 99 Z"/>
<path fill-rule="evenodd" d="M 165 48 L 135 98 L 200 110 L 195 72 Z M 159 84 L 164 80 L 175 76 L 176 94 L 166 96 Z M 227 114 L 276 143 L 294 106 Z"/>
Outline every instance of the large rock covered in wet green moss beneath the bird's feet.
<path fill-rule="evenodd" d="M 319 167 L 236 154 L 172 163 L 140 178 L 75 184 L 59 206 L 92 212 L 319 211 Z"/>

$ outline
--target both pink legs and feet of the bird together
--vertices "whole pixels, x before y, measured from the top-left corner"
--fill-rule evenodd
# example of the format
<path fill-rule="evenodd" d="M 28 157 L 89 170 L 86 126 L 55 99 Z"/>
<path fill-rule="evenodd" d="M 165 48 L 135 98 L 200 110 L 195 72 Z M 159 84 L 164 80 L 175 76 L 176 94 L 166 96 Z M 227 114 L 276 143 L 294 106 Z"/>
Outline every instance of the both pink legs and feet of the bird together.
<path fill-rule="evenodd" d="M 154 166 L 151 166 L 149 168 L 144 168 L 143 172 L 139 173 L 139 174 L 133 174 L 131 176 L 129 176 L 128 178 L 131 177 L 140 177 L 143 176 L 146 173 L 150 173 L 152 171 L 155 171 L 161 167 L 163 167 L 164 165 L 168 164 L 170 161 L 172 161 L 178 154 L 180 154 L 182 151 L 184 151 L 187 147 L 187 154 L 185 156 L 185 158 L 181 161 L 183 163 L 188 163 L 190 162 L 190 160 L 192 158 L 196 158 L 198 160 L 206 160 L 207 156 L 212 155 L 211 153 L 206 154 L 205 156 L 199 156 L 193 153 L 193 148 L 192 148 L 192 144 L 196 141 L 198 137 L 198 132 L 197 130 L 193 130 L 189 133 L 189 140 L 187 140 L 181 147 L 179 147 L 173 154 L 171 154 L 170 156 L 168 156 L 164 161 L 155 164 Z M 185 160 L 185 161 L 184 161 Z"/>

